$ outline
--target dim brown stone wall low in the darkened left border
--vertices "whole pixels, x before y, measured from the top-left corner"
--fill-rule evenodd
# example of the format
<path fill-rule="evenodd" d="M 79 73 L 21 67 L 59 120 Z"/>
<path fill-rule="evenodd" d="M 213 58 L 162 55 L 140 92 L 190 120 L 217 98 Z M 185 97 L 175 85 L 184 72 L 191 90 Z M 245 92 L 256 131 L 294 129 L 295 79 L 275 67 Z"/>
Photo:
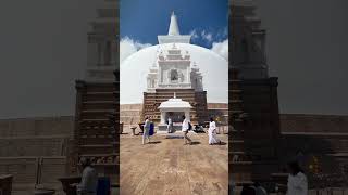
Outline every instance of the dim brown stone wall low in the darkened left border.
<path fill-rule="evenodd" d="M 72 116 L 0 120 L 0 174 L 13 176 L 14 194 L 32 192 L 37 180 L 61 191 L 73 132 Z"/>

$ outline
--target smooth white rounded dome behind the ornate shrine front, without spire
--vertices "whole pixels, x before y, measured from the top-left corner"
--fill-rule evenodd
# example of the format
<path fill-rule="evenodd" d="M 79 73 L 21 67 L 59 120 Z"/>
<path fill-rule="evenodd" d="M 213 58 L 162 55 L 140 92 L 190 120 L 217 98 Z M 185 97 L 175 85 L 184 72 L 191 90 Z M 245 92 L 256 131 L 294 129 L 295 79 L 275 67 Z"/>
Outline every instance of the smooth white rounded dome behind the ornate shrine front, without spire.
<path fill-rule="evenodd" d="M 175 43 L 183 56 L 190 55 L 190 67 L 202 74 L 203 89 L 209 103 L 228 102 L 228 63 L 215 52 L 189 43 Z M 145 48 L 124 60 L 120 65 L 120 103 L 142 103 L 142 92 L 147 89 L 146 77 L 153 64 L 158 67 L 158 56 L 173 49 L 173 43 Z"/>

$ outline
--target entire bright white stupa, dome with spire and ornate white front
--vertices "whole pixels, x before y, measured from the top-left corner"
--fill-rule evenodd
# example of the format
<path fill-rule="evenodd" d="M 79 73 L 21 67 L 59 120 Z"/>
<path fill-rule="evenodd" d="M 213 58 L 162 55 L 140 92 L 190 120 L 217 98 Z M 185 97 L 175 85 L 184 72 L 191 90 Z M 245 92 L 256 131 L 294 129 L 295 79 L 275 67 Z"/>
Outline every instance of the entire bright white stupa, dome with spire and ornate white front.
<path fill-rule="evenodd" d="M 171 15 L 167 35 L 121 63 L 120 103 L 142 103 L 142 92 L 158 88 L 194 88 L 207 91 L 208 102 L 228 102 L 228 63 L 215 52 L 190 43 Z"/>

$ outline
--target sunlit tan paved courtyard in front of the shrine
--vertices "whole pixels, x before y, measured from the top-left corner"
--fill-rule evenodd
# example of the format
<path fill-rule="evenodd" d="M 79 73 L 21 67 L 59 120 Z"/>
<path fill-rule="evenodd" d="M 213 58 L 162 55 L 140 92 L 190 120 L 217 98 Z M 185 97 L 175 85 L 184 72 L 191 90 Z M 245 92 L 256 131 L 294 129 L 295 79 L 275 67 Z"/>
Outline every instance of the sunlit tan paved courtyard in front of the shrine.
<path fill-rule="evenodd" d="M 121 135 L 121 194 L 227 194 L 227 135 L 225 145 L 209 145 L 206 133 L 189 134 L 192 145 L 179 135 L 156 134 L 151 144 L 141 135 Z"/>

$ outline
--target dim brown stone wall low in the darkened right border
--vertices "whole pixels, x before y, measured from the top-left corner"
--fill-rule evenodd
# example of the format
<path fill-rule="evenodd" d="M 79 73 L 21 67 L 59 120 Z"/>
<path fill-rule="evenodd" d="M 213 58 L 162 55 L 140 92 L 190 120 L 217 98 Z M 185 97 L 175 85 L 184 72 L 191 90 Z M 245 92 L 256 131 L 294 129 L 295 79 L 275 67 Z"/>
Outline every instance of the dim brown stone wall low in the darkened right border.
<path fill-rule="evenodd" d="M 288 160 L 301 157 L 310 186 L 314 186 L 314 174 L 309 169 L 313 158 L 326 178 L 335 180 L 347 176 L 348 171 L 348 116 L 282 114 L 279 159 L 285 167 Z M 339 177 L 338 177 L 339 176 Z M 335 181 L 324 185 L 338 186 L 346 181 Z"/>

